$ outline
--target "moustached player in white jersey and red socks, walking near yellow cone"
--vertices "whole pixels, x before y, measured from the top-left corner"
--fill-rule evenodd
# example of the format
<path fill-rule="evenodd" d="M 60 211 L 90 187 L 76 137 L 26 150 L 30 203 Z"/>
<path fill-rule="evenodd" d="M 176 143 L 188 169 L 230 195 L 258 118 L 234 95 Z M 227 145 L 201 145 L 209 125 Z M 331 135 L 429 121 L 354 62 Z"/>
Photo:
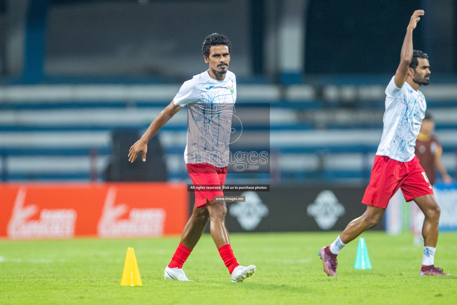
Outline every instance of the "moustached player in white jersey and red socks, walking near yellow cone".
<path fill-rule="evenodd" d="M 187 145 L 184 152 L 189 176 L 194 185 L 223 185 L 227 175 L 228 152 L 231 129 L 230 110 L 236 101 L 235 75 L 228 71 L 230 41 L 224 35 L 213 33 L 203 42 L 202 52 L 209 69 L 186 81 L 173 101 L 135 144 L 130 147 L 129 161 L 135 161 L 141 151 L 146 161 L 149 139 L 182 107 L 188 107 Z M 228 130 L 227 130 L 228 128 Z M 213 158 L 213 156 L 221 158 Z M 211 156 L 206 158 L 206 156 Z M 182 265 L 191 254 L 210 220 L 211 236 L 219 254 L 231 274 L 232 282 L 242 282 L 255 272 L 255 266 L 241 266 L 232 251 L 225 227 L 225 202 L 214 201 L 214 196 L 223 196 L 221 191 L 195 191 L 195 207 L 181 235 L 181 242 L 166 266 L 165 279 L 189 281 Z M 173 204 L 173 203 L 171 203 Z"/>

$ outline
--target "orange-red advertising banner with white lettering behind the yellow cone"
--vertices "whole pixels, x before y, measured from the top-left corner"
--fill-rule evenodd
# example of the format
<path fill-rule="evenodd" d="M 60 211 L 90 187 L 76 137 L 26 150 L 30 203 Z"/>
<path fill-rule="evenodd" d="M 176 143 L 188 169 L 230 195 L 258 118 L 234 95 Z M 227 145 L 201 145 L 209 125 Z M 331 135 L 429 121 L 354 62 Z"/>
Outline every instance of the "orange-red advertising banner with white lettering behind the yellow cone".
<path fill-rule="evenodd" d="M 185 184 L 0 184 L 0 237 L 154 237 L 181 234 Z"/>

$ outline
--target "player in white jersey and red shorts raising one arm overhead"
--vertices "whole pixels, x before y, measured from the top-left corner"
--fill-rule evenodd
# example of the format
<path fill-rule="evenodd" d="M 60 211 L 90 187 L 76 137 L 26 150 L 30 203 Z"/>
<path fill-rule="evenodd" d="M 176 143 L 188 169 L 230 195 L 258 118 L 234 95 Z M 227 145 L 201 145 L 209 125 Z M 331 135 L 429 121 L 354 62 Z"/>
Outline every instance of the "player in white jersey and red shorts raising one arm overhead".
<path fill-rule="evenodd" d="M 378 146 L 370 184 L 362 203 L 366 212 L 352 220 L 329 246 L 319 251 L 324 272 L 336 276 L 336 256 L 348 242 L 377 225 L 389 199 L 401 188 L 406 201 L 414 200 L 425 214 L 422 235 L 424 255 L 420 275 L 449 275 L 434 266 L 440 207 L 436 203 L 425 171 L 414 155 L 414 146 L 425 116 L 425 97 L 418 89 L 428 85 L 430 65 L 427 54 L 413 50 L 413 30 L 424 11 L 414 11 L 401 49 L 400 64 L 386 88 L 386 111 L 381 143 Z"/>

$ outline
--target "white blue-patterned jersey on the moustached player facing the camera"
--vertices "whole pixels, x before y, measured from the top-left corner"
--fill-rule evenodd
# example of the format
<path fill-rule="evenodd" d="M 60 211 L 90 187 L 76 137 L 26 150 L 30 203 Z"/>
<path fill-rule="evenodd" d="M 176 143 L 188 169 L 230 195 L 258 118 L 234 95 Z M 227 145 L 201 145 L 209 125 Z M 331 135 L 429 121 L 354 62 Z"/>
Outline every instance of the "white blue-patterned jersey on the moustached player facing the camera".
<path fill-rule="evenodd" d="M 228 166 L 235 101 L 236 78 L 230 71 L 224 80 L 213 79 L 207 70 L 184 82 L 173 102 L 188 108 L 186 163 Z"/>

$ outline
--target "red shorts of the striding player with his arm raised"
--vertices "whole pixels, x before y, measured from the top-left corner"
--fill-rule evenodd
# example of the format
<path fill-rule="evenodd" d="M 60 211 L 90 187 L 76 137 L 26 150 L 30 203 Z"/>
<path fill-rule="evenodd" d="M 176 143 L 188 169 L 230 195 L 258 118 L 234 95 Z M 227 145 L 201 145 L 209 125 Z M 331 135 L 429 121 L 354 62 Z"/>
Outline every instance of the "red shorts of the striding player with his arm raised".
<path fill-rule="evenodd" d="M 385 155 L 376 155 L 370 184 L 362 203 L 385 209 L 399 188 L 406 201 L 433 194 L 427 175 L 416 156 L 409 162 L 400 162 Z"/>

